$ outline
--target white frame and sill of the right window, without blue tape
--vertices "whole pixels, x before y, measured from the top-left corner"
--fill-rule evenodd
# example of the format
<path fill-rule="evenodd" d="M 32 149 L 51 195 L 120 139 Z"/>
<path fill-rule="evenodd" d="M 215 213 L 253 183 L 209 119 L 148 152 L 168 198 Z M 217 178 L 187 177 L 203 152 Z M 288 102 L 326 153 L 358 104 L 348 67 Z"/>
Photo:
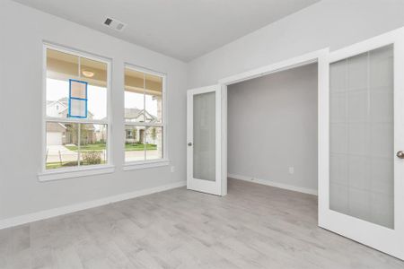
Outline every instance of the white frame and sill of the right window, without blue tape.
<path fill-rule="evenodd" d="M 162 123 L 146 123 L 146 122 L 127 122 L 124 118 L 124 130 L 125 126 L 156 126 L 162 127 L 162 159 L 157 159 L 157 160 L 142 160 L 142 161 L 125 161 L 125 141 L 122 143 L 123 147 L 123 169 L 124 171 L 128 170 L 133 170 L 133 169 L 148 169 L 148 168 L 154 168 L 154 167 L 161 167 L 161 166 L 166 166 L 170 164 L 170 159 L 169 159 L 169 152 L 168 152 L 168 117 L 167 117 L 167 74 L 163 74 L 160 72 L 156 72 L 150 69 L 147 69 L 145 67 L 137 66 L 137 65 L 132 65 L 129 63 L 124 64 L 124 70 L 126 68 L 132 69 L 137 72 L 141 72 L 144 74 L 152 74 L 156 76 L 160 76 L 162 78 Z M 123 74 L 123 80 L 125 84 L 125 72 Z M 123 89 L 123 94 L 125 95 L 125 86 Z M 125 100 L 125 96 L 124 96 Z M 125 106 L 124 106 L 125 109 Z"/>

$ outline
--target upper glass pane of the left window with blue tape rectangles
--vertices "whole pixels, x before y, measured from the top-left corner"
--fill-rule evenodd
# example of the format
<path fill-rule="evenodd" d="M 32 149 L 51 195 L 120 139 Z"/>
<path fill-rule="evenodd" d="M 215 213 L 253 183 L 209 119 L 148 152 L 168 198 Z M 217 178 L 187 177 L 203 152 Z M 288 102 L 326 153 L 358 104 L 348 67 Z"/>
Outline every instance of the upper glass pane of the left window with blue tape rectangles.
<path fill-rule="evenodd" d="M 108 65 L 104 62 L 87 59 L 55 49 L 47 49 L 47 78 L 46 78 L 46 111 L 47 117 L 77 119 L 107 118 L 107 86 Z M 87 105 L 74 105 L 69 113 L 70 91 L 69 82 L 74 83 L 71 97 L 76 100 L 86 100 Z M 78 83 L 82 82 L 82 83 Z M 86 91 L 83 91 L 84 83 Z M 83 102 L 83 101 L 81 101 Z M 72 103 L 72 104 L 73 104 Z"/>

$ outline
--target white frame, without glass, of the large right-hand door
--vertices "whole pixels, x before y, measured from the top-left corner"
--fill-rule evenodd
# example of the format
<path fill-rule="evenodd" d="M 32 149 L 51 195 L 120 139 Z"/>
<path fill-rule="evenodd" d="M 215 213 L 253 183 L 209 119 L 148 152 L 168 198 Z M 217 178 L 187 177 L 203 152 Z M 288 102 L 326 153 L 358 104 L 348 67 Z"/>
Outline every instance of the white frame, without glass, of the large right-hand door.
<path fill-rule="evenodd" d="M 329 64 L 395 44 L 395 59 L 404 59 L 404 28 L 341 48 L 329 54 Z M 327 65 L 329 65 L 327 64 Z M 400 74 L 400 75 L 399 75 Z M 394 151 L 404 150 L 404 61 L 394 61 Z M 329 78 L 327 78 L 328 80 Z M 319 95 L 319 226 L 366 246 L 404 259 L 404 162 L 394 159 L 394 230 L 329 209 L 329 91 Z M 402 148 L 401 148 L 401 147 Z M 391 152 L 394 153 L 394 152 Z"/>

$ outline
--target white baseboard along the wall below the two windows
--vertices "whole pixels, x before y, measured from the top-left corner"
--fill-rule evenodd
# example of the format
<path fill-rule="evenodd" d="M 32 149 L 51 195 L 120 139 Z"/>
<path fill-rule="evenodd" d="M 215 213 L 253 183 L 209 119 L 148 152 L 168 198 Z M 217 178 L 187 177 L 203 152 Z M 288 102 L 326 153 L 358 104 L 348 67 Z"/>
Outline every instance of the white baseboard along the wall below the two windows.
<path fill-rule="evenodd" d="M 143 196 L 143 195 L 151 195 L 154 193 L 159 193 L 159 192 L 162 192 L 165 190 L 169 190 L 171 188 L 183 187 L 186 185 L 187 185 L 186 181 L 180 181 L 180 182 L 163 185 L 160 187 L 152 187 L 152 188 L 138 190 L 135 192 L 126 193 L 126 194 L 122 194 L 122 195 L 113 195 L 113 196 L 109 196 L 106 198 L 101 198 L 101 199 L 84 202 L 84 203 L 80 203 L 80 204 L 72 204 L 72 205 L 67 205 L 67 206 L 62 206 L 62 207 L 57 207 L 57 208 L 53 208 L 53 209 L 49 209 L 49 210 L 40 211 L 37 213 L 25 214 L 25 215 L 1 220 L 0 221 L 0 230 L 9 228 L 9 227 L 13 227 L 13 226 L 17 226 L 17 225 L 22 225 L 22 224 L 33 222 L 33 221 L 49 219 L 49 218 L 64 215 L 67 213 L 75 213 L 75 212 L 82 211 L 84 209 L 89 209 L 92 207 L 97 207 L 97 206 L 101 206 L 101 205 L 105 205 L 105 204 L 112 204 L 112 203 L 136 198 L 136 197 Z"/>

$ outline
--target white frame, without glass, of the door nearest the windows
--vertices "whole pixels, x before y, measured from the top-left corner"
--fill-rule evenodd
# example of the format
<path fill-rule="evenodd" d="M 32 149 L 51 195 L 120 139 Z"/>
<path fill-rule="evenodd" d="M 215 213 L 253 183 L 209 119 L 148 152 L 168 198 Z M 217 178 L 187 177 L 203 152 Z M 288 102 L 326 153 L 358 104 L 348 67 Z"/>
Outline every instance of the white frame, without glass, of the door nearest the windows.
<path fill-rule="evenodd" d="M 196 94 L 215 92 L 215 181 L 193 177 L 193 98 Z M 187 188 L 213 195 L 227 195 L 227 148 L 223 143 L 227 130 L 227 88 L 211 85 L 187 91 Z M 224 125 L 225 123 L 225 125 Z M 225 174 L 224 174 L 225 173 Z"/>

